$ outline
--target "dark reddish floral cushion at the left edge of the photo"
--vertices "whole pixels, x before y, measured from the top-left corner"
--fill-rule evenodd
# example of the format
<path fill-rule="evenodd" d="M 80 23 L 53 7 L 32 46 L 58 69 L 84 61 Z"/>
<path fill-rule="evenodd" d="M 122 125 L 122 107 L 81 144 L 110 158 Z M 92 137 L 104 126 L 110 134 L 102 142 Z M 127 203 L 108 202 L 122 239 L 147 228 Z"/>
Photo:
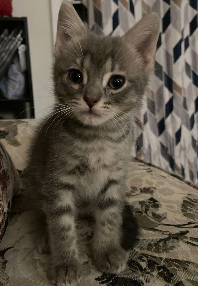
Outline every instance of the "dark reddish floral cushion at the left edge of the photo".
<path fill-rule="evenodd" d="M 7 227 L 13 192 L 17 192 L 19 187 L 19 173 L 0 142 L 0 242 Z"/>

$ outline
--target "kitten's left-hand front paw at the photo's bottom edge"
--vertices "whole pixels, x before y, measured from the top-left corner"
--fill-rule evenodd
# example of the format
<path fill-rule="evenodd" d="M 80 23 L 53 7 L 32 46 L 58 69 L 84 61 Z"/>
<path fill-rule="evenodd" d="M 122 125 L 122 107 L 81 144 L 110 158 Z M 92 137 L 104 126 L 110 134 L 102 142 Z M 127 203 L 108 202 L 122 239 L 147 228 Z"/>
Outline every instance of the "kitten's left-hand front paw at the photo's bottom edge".
<path fill-rule="evenodd" d="M 60 267 L 57 271 L 57 276 L 52 283 L 56 286 L 75 286 L 80 282 L 82 271 L 80 266 Z"/>

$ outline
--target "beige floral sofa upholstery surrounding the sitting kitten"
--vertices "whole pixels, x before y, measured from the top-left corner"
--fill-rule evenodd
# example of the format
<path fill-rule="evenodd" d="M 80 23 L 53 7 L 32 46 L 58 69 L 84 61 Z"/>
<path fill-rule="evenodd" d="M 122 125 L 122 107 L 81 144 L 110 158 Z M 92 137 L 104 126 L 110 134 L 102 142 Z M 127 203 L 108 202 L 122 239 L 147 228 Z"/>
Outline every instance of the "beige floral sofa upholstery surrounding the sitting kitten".
<path fill-rule="evenodd" d="M 17 153 L 15 159 L 20 157 L 21 168 L 25 166 L 23 150 L 33 134 L 34 124 L 34 120 L 12 123 L 17 126 L 18 135 L 15 137 L 23 148 L 12 145 L 9 150 L 14 154 L 12 148 L 18 148 L 18 151 L 20 148 L 21 154 Z M 7 148 L 10 143 L 6 142 Z M 197 188 L 137 160 L 130 163 L 129 172 L 126 195 L 141 227 L 138 243 L 130 253 L 125 271 L 119 275 L 106 275 L 92 264 L 89 245 L 94 224 L 79 221 L 80 262 L 84 267 L 80 285 L 197 286 Z M 22 192 L 13 200 L 10 222 L 0 244 L 0 285 L 50 285 L 46 238 L 38 222 L 41 219 L 35 217 L 33 210 L 23 206 Z"/>

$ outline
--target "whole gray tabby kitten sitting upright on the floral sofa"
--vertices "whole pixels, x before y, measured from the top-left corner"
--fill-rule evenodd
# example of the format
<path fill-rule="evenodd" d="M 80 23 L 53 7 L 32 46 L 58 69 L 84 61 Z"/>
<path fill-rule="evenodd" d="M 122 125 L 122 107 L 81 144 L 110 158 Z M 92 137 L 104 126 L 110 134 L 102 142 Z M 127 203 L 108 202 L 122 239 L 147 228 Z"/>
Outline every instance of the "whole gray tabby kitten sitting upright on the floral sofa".
<path fill-rule="evenodd" d="M 29 189 L 47 222 L 50 275 L 57 286 L 80 279 L 76 220 L 95 217 L 93 256 L 106 273 L 123 271 L 138 227 L 124 201 L 133 144 L 131 119 L 154 64 L 159 20 L 152 13 L 123 37 L 88 32 L 73 6 L 60 7 L 54 111 L 37 131 Z"/>

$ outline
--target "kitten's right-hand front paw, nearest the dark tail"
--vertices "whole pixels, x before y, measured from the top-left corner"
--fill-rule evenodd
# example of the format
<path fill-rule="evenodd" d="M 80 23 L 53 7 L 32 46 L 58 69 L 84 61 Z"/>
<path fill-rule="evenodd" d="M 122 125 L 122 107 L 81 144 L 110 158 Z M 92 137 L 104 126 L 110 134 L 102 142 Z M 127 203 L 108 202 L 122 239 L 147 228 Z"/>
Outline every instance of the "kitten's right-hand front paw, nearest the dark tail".
<path fill-rule="evenodd" d="M 104 255 L 95 255 L 96 267 L 105 273 L 118 274 L 124 271 L 128 259 L 128 253 L 121 247 L 113 249 Z"/>

